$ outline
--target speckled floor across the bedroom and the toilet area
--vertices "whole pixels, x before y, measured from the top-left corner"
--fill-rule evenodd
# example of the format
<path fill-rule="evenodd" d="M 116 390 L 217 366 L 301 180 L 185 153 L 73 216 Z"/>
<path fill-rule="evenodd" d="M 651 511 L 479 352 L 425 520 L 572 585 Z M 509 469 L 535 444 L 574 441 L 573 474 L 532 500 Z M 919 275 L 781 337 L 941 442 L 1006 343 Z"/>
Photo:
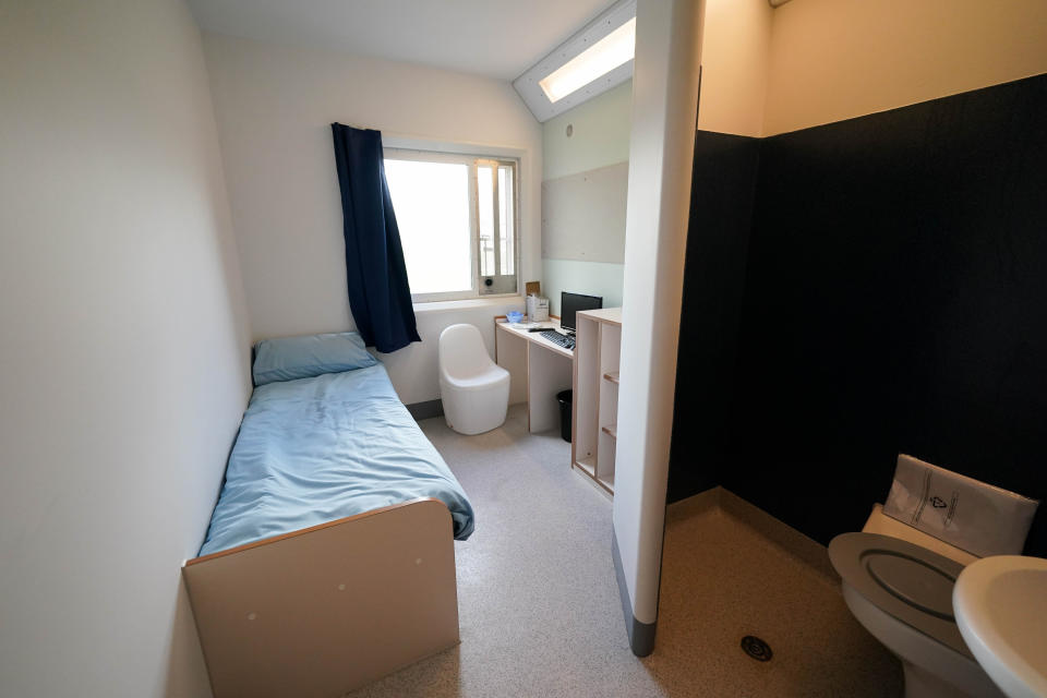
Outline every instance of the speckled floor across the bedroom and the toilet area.
<path fill-rule="evenodd" d="M 767 521 L 736 498 L 671 508 L 655 650 L 636 658 L 611 502 L 571 472 L 570 445 L 528 434 L 520 406 L 480 436 L 442 418 L 420 424 L 477 514 L 455 544 L 461 643 L 352 698 L 901 696 L 898 662 L 851 617 L 837 582 L 758 532 Z M 744 635 L 767 640 L 773 659 L 747 657 Z"/>

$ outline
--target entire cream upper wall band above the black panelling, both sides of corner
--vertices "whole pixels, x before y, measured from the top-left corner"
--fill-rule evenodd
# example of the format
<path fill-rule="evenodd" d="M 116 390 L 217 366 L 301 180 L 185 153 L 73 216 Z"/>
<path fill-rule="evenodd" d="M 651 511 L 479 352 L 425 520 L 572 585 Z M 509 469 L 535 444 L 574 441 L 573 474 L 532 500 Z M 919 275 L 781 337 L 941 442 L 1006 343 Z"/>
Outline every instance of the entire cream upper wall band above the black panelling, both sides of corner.
<path fill-rule="evenodd" d="M 1047 72 L 1045 0 L 707 0 L 698 128 L 773 135 Z"/>

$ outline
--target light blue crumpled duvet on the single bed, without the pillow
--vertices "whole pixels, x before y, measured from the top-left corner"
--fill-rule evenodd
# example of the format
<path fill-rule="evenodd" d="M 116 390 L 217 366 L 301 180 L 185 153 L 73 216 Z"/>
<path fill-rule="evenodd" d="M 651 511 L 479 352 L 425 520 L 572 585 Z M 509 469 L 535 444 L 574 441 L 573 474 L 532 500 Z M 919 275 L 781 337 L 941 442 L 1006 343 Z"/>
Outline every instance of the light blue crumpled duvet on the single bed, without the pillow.
<path fill-rule="evenodd" d="M 201 555 L 417 497 L 472 533 L 461 485 L 382 364 L 261 385 L 243 416 Z"/>

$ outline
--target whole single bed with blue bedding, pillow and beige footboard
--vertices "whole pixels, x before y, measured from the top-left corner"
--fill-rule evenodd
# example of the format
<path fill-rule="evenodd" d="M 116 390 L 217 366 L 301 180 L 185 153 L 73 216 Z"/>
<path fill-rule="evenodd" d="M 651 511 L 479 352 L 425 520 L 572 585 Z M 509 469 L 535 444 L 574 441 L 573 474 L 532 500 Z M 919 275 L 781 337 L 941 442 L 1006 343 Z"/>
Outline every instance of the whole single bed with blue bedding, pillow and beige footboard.
<path fill-rule="evenodd" d="M 347 335 L 277 340 L 269 374 L 260 345 L 206 540 L 183 567 L 217 698 L 339 696 L 458 641 L 453 538 L 472 532 L 472 507 Z"/>

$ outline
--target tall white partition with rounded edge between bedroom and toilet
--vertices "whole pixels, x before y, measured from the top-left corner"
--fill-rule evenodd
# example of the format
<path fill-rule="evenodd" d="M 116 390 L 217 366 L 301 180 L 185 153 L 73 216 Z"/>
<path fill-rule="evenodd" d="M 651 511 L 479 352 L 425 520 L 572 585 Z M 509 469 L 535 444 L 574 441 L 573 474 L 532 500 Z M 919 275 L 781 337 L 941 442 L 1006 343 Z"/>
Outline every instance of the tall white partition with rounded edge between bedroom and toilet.
<path fill-rule="evenodd" d="M 633 651 L 650 653 L 673 425 L 701 0 L 640 0 L 625 236 L 614 563 Z"/>

